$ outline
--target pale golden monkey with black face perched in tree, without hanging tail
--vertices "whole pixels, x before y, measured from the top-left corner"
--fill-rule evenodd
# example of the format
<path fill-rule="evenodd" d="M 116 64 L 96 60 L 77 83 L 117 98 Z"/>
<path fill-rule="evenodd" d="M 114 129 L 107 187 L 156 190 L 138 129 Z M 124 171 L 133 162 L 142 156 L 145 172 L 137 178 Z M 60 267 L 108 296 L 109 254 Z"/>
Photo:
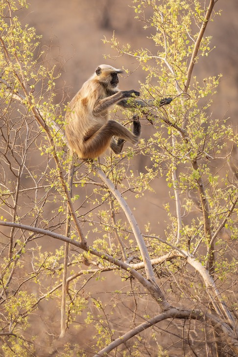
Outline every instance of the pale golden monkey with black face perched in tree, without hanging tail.
<path fill-rule="evenodd" d="M 66 136 L 69 145 L 82 159 L 93 159 L 107 147 L 119 154 L 128 140 L 136 144 L 141 133 L 139 120 L 133 122 L 134 134 L 120 123 L 110 120 L 110 108 L 118 104 L 128 108 L 127 99 L 140 95 L 135 90 L 118 89 L 117 69 L 108 65 L 97 67 L 69 104 L 66 114 Z M 114 136 L 119 139 L 116 141 Z"/>

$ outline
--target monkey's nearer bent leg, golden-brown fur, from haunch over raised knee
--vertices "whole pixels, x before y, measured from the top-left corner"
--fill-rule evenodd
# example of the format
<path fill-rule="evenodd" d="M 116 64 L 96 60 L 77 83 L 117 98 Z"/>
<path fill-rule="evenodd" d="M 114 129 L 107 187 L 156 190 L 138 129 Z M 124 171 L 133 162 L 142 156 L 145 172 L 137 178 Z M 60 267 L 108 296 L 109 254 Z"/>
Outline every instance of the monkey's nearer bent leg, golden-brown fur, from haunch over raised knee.
<path fill-rule="evenodd" d="M 135 124 L 135 126 L 138 127 L 138 124 Z M 117 136 L 120 139 L 127 140 L 133 145 L 135 145 L 139 139 L 137 135 L 131 133 L 120 123 L 114 120 L 108 120 L 108 122 L 106 122 L 92 136 L 87 136 L 87 139 L 83 143 L 83 148 L 81 150 L 80 157 L 95 158 L 99 156 L 110 145 L 113 136 Z"/>

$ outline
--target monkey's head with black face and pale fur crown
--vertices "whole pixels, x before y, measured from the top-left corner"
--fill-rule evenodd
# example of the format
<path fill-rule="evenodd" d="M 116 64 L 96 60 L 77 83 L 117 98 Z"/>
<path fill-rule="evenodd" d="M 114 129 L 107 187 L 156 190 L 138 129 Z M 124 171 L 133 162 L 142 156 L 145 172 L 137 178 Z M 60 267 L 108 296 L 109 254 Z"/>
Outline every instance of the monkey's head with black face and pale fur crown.
<path fill-rule="evenodd" d="M 106 88 L 116 88 L 118 86 L 118 73 L 123 73 L 123 70 L 109 65 L 100 65 L 95 70 L 97 80 Z"/>

